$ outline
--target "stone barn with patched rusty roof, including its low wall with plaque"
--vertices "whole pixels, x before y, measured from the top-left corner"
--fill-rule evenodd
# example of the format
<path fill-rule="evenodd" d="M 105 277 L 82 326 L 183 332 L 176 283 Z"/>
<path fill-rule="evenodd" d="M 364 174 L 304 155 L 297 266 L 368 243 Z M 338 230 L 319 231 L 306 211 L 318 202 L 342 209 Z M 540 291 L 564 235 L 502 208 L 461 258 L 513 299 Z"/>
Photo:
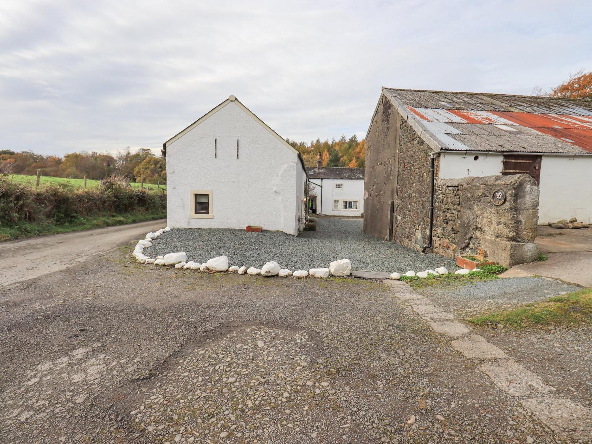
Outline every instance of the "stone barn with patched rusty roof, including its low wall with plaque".
<path fill-rule="evenodd" d="M 365 233 L 513 265 L 537 223 L 592 222 L 590 101 L 383 88 L 366 144 Z"/>

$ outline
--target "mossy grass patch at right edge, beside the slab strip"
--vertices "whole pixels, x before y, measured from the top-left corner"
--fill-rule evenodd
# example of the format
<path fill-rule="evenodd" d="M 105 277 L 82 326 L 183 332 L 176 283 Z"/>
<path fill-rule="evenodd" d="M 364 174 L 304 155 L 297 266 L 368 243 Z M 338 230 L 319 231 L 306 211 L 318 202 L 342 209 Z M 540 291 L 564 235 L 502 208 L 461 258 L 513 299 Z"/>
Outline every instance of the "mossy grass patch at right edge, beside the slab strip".
<path fill-rule="evenodd" d="M 504 324 L 517 329 L 583 324 L 592 320 L 592 288 L 526 304 L 513 310 L 485 314 L 468 321 L 480 326 Z"/>

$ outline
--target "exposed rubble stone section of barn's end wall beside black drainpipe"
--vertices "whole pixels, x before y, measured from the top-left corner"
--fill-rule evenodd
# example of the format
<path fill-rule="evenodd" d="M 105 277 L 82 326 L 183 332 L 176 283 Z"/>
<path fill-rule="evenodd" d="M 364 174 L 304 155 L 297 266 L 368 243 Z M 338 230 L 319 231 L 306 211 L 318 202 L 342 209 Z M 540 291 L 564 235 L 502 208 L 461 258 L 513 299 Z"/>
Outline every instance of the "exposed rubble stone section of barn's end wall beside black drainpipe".
<path fill-rule="evenodd" d="M 416 250 L 428 243 L 432 152 L 410 124 L 401 120 L 392 239 Z"/>

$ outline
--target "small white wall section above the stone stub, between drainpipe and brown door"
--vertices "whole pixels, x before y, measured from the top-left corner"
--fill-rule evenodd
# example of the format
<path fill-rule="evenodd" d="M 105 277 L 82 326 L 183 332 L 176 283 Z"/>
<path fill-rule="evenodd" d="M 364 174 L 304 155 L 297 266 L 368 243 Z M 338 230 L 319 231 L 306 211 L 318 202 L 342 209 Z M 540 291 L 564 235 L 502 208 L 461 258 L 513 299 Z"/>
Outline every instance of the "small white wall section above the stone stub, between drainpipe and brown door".
<path fill-rule="evenodd" d="M 503 160 L 504 156 L 497 153 L 441 153 L 438 177 L 462 179 L 466 176 L 495 176 L 501 174 Z"/>

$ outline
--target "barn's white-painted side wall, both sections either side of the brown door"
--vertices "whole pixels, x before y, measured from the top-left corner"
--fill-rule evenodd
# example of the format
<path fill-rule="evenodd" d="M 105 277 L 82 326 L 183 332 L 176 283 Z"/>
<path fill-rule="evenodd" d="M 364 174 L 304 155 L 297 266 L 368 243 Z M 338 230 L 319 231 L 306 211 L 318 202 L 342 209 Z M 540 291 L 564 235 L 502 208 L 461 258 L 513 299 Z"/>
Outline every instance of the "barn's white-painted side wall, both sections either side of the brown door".
<path fill-rule="evenodd" d="M 439 178 L 499 175 L 503 159 L 492 153 L 442 153 Z M 545 154 L 540 163 L 539 224 L 572 217 L 592 223 L 592 156 Z"/>

